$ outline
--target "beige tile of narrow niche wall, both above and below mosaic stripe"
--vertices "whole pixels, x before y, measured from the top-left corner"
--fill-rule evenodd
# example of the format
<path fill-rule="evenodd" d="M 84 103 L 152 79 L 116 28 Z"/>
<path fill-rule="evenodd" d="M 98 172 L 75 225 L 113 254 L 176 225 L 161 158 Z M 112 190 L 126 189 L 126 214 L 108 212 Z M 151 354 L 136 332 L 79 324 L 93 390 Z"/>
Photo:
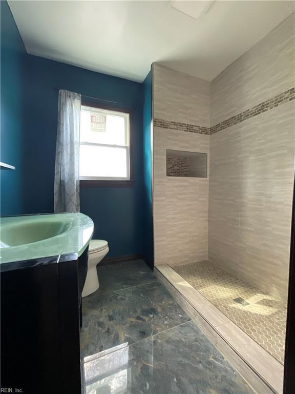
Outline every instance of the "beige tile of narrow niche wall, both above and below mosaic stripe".
<path fill-rule="evenodd" d="M 154 64 L 153 95 L 154 117 L 209 127 L 209 82 Z M 167 177 L 166 149 L 209 154 L 209 135 L 154 127 L 155 264 L 204 260 L 208 178 Z"/>

